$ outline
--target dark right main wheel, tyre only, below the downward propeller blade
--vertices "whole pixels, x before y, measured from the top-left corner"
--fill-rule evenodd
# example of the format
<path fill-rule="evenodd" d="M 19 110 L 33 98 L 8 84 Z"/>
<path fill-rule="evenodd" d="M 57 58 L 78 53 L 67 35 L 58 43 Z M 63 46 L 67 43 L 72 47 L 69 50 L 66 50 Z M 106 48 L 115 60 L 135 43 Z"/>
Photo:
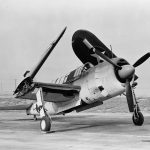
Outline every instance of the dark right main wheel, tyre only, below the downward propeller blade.
<path fill-rule="evenodd" d="M 132 120 L 136 126 L 142 126 L 144 123 L 144 116 L 141 112 L 137 112 L 136 114 L 133 114 Z"/>

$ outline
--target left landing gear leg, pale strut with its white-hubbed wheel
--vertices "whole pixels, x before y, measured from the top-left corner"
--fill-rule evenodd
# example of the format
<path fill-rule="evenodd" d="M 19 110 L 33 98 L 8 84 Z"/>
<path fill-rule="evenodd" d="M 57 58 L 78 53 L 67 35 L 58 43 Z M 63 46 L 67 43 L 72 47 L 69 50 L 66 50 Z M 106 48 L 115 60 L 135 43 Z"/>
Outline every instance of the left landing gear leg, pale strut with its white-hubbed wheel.
<path fill-rule="evenodd" d="M 37 98 L 37 107 L 39 108 L 39 113 L 40 113 L 40 117 L 41 117 L 40 128 L 42 131 L 48 132 L 51 129 L 52 121 L 45 109 L 42 88 L 38 89 L 38 91 L 36 93 L 36 98 Z"/>

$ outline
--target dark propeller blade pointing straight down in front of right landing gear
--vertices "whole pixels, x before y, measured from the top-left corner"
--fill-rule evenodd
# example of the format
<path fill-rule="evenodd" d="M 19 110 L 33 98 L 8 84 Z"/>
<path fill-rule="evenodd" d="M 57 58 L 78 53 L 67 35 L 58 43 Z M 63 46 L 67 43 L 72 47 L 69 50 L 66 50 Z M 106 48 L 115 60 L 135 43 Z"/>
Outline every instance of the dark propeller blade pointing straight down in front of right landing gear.
<path fill-rule="evenodd" d="M 128 103 L 128 108 L 130 112 L 134 111 L 133 93 L 130 81 L 126 80 L 126 98 Z"/>

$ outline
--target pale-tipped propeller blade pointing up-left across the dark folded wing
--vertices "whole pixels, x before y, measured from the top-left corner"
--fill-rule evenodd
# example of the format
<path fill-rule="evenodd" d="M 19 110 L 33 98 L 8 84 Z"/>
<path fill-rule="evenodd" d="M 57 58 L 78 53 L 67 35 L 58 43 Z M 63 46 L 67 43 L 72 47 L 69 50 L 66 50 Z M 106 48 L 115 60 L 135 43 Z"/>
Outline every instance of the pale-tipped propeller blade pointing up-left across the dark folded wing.
<path fill-rule="evenodd" d="M 118 66 L 116 63 L 114 63 L 110 58 L 108 58 L 106 55 L 104 55 L 103 53 L 101 53 L 100 47 L 93 47 L 91 45 L 91 43 L 87 40 L 87 39 L 84 39 L 83 40 L 83 43 L 91 50 L 93 50 L 93 52 L 95 52 L 97 55 L 99 55 L 101 58 L 103 58 L 104 60 L 106 60 L 107 62 L 109 62 L 110 64 L 112 64 L 114 67 L 118 68 L 118 69 L 122 69 L 121 66 Z"/>

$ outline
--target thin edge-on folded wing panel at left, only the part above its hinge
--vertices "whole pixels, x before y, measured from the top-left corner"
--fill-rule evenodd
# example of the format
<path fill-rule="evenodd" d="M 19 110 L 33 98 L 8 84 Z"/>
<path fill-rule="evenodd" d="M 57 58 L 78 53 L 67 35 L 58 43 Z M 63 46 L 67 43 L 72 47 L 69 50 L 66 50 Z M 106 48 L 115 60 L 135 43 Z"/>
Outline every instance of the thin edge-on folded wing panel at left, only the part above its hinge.
<path fill-rule="evenodd" d="M 62 32 L 59 34 L 58 38 L 55 41 L 52 42 L 51 46 L 46 50 L 46 52 L 42 56 L 41 60 L 34 67 L 34 69 L 30 72 L 29 76 L 30 76 L 31 79 L 33 79 L 35 77 L 35 75 L 38 73 L 38 71 L 40 70 L 40 68 L 42 67 L 42 65 L 44 64 L 44 62 L 46 61 L 46 59 L 48 58 L 48 56 L 52 52 L 52 50 L 55 48 L 55 46 L 57 45 L 57 43 L 59 42 L 59 40 L 61 39 L 61 37 L 65 33 L 66 29 L 67 29 L 67 27 L 65 27 L 62 30 Z"/>

